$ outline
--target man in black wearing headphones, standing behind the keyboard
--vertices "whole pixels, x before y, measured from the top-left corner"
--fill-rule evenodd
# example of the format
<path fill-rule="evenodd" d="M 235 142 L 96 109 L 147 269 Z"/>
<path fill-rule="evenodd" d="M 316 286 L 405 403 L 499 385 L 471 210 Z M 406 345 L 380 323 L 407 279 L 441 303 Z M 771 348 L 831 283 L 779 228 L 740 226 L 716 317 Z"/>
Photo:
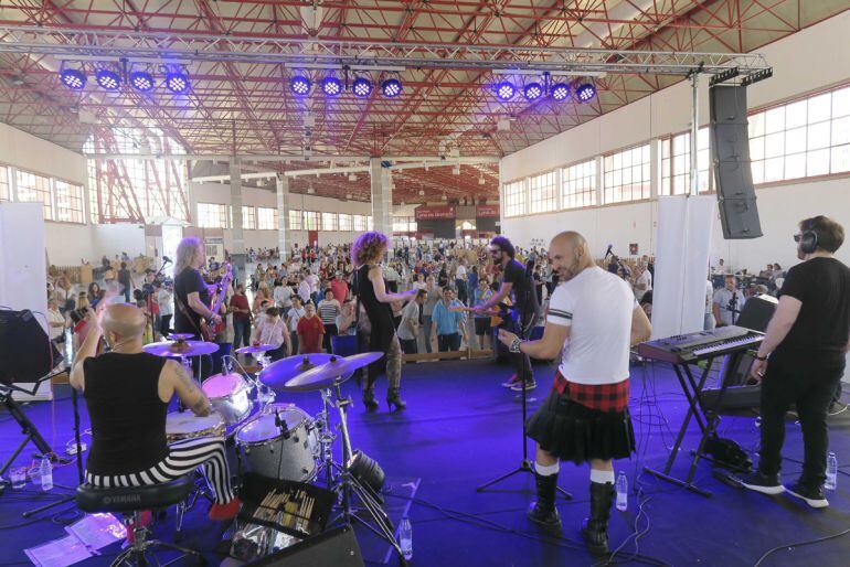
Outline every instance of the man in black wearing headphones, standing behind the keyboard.
<path fill-rule="evenodd" d="M 826 216 L 806 218 L 794 236 L 803 263 L 788 270 L 779 304 L 758 346 L 751 376 L 762 382 L 762 448 L 758 470 L 743 486 L 763 494 L 787 491 L 811 507 L 829 505 L 826 480 L 827 410 L 850 349 L 850 268 L 833 254 L 844 229 Z M 803 427 L 803 472 L 793 485 L 779 482 L 785 413 L 794 404 Z"/>

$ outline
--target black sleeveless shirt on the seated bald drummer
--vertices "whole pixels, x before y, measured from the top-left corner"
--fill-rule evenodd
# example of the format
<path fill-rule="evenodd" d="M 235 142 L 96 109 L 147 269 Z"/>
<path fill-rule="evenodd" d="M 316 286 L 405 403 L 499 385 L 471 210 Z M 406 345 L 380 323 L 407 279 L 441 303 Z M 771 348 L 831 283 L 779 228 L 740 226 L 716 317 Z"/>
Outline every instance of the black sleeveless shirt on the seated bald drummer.
<path fill-rule="evenodd" d="M 110 352 L 83 362 L 92 450 L 92 474 L 146 470 L 168 454 L 166 413 L 159 374 L 166 359 L 148 353 Z"/>

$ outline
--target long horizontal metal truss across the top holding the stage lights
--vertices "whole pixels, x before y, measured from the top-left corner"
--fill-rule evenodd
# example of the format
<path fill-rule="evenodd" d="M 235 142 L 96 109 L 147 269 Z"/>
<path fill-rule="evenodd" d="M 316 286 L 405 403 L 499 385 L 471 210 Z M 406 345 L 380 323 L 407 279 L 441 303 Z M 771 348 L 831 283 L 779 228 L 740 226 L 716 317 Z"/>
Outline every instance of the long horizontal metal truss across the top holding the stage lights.
<path fill-rule="evenodd" d="M 67 60 L 104 56 L 163 63 L 230 62 L 341 65 L 359 68 L 539 71 L 688 75 L 736 67 L 742 75 L 769 68 L 761 53 L 702 53 L 518 45 L 361 42 L 220 35 L 136 33 L 75 28 L 0 25 L 0 52 L 54 55 Z"/>

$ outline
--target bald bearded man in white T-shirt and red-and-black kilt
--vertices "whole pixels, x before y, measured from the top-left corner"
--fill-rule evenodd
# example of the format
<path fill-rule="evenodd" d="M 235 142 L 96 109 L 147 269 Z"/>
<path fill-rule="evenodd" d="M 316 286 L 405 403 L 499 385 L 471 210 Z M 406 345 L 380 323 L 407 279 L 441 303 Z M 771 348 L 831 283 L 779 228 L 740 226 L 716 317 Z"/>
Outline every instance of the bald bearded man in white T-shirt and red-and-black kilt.
<path fill-rule="evenodd" d="M 538 501 L 528 516 L 560 531 L 559 459 L 589 462 L 591 515 L 581 533 L 591 553 L 604 555 L 609 553 L 613 459 L 628 457 L 635 447 L 628 414 L 629 347 L 649 339 L 651 325 L 628 285 L 596 266 L 581 234 L 555 236 L 549 256 L 562 284 L 552 293 L 543 338 L 522 341 L 499 331 L 512 352 L 540 360 L 562 353 L 552 392 L 525 424 L 538 442 Z"/>

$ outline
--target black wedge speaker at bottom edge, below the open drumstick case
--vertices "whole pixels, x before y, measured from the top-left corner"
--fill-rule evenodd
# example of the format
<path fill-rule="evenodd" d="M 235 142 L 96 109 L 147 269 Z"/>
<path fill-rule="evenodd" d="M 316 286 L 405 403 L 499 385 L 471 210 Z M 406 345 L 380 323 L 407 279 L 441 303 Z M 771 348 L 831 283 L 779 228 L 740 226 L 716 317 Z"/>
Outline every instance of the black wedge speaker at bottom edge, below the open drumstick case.
<path fill-rule="evenodd" d="M 309 539 L 248 564 L 252 567 L 363 567 L 363 556 L 351 526 L 328 529 Z"/>

